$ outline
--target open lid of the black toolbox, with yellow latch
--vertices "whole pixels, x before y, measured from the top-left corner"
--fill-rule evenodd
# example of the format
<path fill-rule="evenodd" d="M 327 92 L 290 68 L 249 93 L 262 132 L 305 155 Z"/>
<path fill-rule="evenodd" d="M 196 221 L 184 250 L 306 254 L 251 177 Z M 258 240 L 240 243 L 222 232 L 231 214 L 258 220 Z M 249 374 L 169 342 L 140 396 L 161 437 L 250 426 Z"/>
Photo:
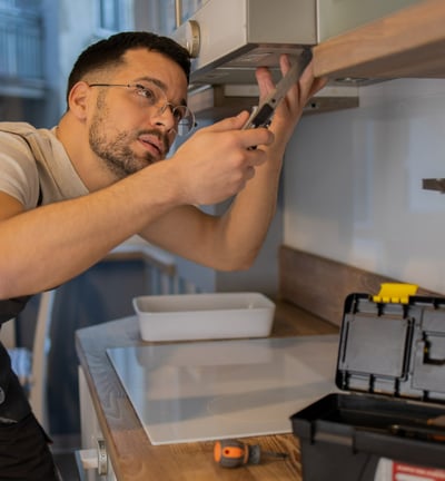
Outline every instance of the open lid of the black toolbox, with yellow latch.
<path fill-rule="evenodd" d="M 344 391 L 445 403 L 445 297 L 384 284 L 345 301 L 336 385 Z"/>

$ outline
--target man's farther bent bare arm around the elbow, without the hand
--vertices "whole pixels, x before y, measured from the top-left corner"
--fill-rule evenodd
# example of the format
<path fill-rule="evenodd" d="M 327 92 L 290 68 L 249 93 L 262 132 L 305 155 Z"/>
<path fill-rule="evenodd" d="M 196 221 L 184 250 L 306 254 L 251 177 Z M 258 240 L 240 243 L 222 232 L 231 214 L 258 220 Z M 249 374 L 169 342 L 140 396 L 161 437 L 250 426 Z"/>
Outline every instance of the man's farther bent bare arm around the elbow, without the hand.
<path fill-rule="evenodd" d="M 215 269 L 246 269 L 255 261 L 274 217 L 280 167 L 281 157 L 269 156 L 221 216 L 182 206 L 147 226 L 141 235 Z"/>

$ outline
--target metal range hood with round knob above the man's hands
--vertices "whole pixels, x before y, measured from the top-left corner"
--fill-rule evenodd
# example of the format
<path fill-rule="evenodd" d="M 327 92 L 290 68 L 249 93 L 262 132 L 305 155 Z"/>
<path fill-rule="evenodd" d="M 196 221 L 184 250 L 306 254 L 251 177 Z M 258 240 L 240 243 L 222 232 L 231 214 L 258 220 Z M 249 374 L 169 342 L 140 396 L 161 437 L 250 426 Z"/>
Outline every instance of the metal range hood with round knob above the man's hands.
<path fill-rule="evenodd" d="M 207 0 L 172 33 L 190 52 L 190 107 L 218 118 L 258 102 L 255 69 L 281 75 L 281 53 L 298 60 L 317 43 L 317 0 Z M 358 106 L 358 82 L 332 81 L 310 99 L 305 112 Z"/>

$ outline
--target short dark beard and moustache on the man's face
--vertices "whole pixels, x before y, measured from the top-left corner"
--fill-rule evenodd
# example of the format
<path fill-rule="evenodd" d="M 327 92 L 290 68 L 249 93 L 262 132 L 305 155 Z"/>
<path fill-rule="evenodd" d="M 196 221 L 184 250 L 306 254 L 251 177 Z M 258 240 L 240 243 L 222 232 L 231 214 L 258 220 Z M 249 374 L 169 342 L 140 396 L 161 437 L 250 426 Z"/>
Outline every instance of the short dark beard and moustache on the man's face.
<path fill-rule="evenodd" d="M 144 156 L 136 157 L 130 146 L 138 140 L 140 135 L 150 134 L 157 136 L 162 141 L 165 151 L 168 151 L 168 137 L 157 129 L 145 129 L 137 132 L 127 130 L 118 132 L 113 138 L 109 138 L 106 132 L 112 131 L 113 127 L 108 125 L 108 118 L 105 100 L 99 96 L 97 110 L 89 130 L 89 145 L 97 157 L 103 161 L 105 167 L 117 179 L 122 179 L 159 160 L 148 151 Z"/>

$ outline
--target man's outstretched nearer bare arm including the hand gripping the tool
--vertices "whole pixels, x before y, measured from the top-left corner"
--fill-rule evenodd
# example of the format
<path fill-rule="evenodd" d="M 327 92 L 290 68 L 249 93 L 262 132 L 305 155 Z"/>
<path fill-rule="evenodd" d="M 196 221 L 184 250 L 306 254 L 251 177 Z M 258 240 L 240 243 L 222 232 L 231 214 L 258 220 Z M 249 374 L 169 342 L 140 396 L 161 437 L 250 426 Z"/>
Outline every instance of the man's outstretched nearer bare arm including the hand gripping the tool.
<path fill-rule="evenodd" d="M 247 147 L 273 140 L 266 129 L 239 130 L 246 117 L 194 136 L 176 161 L 157 163 L 77 199 L 23 212 L 0 194 L 0 298 L 72 278 L 172 208 L 217 203 L 239 192 L 250 176 L 246 166 L 266 160 L 264 151 Z M 225 161 L 211 165 L 212 151 Z"/>

